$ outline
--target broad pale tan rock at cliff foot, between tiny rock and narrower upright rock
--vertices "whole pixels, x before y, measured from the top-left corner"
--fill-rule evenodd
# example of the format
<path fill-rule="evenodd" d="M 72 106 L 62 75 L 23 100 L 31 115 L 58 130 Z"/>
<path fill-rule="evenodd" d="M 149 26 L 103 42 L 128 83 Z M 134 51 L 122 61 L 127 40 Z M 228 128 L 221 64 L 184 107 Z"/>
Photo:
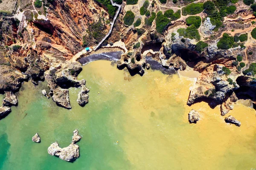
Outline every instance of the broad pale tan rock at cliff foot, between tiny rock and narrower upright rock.
<path fill-rule="evenodd" d="M 71 109 L 70 99 L 67 89 L 55 88 L 53 90 L 52 100 L 64 108 Z"/>

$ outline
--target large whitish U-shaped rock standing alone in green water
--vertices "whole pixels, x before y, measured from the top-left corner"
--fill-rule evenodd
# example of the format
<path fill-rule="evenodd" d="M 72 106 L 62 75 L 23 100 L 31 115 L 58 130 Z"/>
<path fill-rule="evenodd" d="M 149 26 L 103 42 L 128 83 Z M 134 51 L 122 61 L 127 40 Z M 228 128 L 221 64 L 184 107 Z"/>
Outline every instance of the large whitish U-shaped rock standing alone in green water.
<path fill-rule="evenodd" d="M 78 135 L 78 130 L 73 131 L 72 142 L 68 147 L 61 148 L 57 142 L 54 142 L 48 147 L 48 153 L 52 156 L 59 156 L 65 161 L 73 161 L 79 157 L 79 146 L 75 144 L 81 139 Z"/>

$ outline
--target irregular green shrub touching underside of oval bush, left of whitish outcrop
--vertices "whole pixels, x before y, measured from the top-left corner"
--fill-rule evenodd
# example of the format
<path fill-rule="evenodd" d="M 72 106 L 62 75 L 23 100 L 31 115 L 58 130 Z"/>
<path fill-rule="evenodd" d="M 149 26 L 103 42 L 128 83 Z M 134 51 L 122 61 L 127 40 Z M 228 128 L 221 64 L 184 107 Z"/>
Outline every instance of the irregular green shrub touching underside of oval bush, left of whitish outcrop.
<path fill-rule="evenodd" d="M 180 36 L 189 38 L 189 39 L 195 39 L 195 40 L 200 40 L 200 34 L 198 30 L 195 28 L 195 25 L 192 24 L 192 26 L 189 26 L 188 28 L 179 28 L 177 30 Z"/>

